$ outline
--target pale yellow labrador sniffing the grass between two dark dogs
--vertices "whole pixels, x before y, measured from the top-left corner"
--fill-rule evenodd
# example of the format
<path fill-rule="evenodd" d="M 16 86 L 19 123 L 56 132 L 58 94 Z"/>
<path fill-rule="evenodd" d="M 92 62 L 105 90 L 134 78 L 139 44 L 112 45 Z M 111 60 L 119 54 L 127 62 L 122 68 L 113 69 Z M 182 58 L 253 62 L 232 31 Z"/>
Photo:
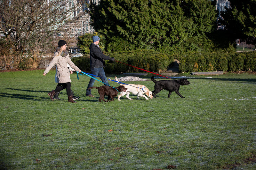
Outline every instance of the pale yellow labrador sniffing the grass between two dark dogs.
<path fill-rule="evenodd" d="M 118 81 L 117 77 L 115 78 L 116 78 L 116 81 Z M 139 96 L 144 97 L 146 100 L 148 100 L 148 98 L 144 94 L 146 94 L 150 99 L 154 98 L 152 92 L 148 90 L 148 88 L 145 85 L 134 85 L 134 84 L 127 84 L 127 85 L 120 84 L 120 85 L 123 85 L 124 87 L 126 87 L 127 90 L 126 92 L 120 92 L 120 95 L 118 95 L 118 101 L 121 101 L 120 97 L 124 96 L 125 94 L 128 99 L 132 100 L 131 98 L 129 98 L 130 92 L 132 94 L 137 95 L 138 100 L 139 100 Z"/>

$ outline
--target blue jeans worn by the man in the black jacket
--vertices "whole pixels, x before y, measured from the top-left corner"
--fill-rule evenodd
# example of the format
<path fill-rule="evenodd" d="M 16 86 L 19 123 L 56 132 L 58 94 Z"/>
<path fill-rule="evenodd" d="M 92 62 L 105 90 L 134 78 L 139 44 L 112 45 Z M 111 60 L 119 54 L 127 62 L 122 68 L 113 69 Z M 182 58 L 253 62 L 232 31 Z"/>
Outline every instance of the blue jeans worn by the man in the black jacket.
<path fill-rule="evenodd" d="M 100 76 L 101 81 L 103 83 L 106 83 L 107 85 L 109 85 L 108 79 L 106 78 L 105 71 L 104 71 L 103 67 L 94 67 L 94 68 L 91 69 L 91 71 L 92 71 L 92 74 L 95 75 L 95 76 L 92 76 L 92 77 L 97 78 L 97 76 Z M 92 94 L 92 89 L 88 90 L 88 88 L 92 87 L 94 85 L 94 82 L 95 82 L 94 78 L 90 79 L 90 82 L 89 82 L 89 84 L 87 86 L 87 89 L 86 89 L 86 96 Z M 103 85 L 105 85 L 105 84 L 103 84 Z"/>

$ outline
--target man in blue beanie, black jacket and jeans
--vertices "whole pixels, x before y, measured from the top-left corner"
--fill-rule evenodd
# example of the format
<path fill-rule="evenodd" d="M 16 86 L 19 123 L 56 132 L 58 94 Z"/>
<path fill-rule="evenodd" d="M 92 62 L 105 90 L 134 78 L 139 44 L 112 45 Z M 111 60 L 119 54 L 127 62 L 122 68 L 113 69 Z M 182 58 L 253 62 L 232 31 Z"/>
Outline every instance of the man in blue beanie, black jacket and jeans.
<path fill-rule="evenodd" d="M 92 71 L 92 74 L 96 76 L 100 76 L 101 81 L 109 85 L 108 79 L 106 78 L 105 71 L 103 67 L 105 66 L 105 61 L 104 60 L 110 60 L 110 61 L 115 61 L 114 58 L 109 57 L 108 55 L 104 55 L 99 47 L 99 42 L 100 42 L 100 37 L 97 35 L 92 37 L 92 42 L 91 46 L 89 47 L 90 49 L 90 68 Z M 86 96 L 89 97 L 94 97 L 92 95 L 92 89 L 88 89 L 89 87 L 92 87 L 94 85 L 95 79 L 91 78 L 90 82 L 87 86 L 86 89 Z"/>

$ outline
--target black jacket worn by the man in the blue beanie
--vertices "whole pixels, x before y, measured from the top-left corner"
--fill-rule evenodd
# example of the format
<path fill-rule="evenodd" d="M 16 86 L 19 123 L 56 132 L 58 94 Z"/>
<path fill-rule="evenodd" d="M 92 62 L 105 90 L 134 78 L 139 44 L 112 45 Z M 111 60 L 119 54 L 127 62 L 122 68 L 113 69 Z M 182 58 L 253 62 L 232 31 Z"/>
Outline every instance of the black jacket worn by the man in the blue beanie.
<path fill-rule="evenodd" d="M 91 43 L 90 49 L 90 67 L 91 69 L 93 67 L 104 67 L 105 61 L 104 60 L 110 60 L 110 57 L 108 55 L 104 55 L 96 44 Z"/>

